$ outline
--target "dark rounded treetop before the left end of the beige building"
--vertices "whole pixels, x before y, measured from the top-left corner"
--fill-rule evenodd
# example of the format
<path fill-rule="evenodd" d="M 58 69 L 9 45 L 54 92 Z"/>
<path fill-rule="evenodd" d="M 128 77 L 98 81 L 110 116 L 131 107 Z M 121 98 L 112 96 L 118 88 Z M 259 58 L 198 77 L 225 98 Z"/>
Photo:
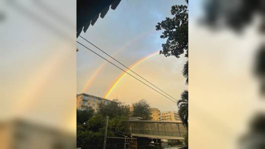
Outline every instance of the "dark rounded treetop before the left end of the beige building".
<path fill-rule="evenodd" d="M 77 110 L 77 123 L 84 124 L 94 114 L 94 110 L 88 107 L 86 110 Z"/>

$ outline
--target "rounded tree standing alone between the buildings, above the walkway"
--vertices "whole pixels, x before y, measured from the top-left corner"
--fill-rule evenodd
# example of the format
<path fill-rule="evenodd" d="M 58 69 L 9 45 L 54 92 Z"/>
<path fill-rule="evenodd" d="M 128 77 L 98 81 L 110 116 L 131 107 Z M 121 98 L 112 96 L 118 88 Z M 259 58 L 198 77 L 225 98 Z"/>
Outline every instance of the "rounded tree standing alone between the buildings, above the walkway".
<path fill-rule="evenodd" d="M 151 120 L 151 107 L 145 99 L 142 99 L 136 103 L 133 103 L 132 116 L 143 118 L 143 120 Z"/>

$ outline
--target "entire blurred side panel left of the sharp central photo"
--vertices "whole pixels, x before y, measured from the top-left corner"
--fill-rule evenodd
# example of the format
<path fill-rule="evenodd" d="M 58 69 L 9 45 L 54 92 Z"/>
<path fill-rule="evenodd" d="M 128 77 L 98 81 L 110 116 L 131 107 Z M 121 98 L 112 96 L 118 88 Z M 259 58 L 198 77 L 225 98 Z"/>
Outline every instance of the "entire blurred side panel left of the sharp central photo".
<path fill-rule="evenodd" d="M 0 149 L 75 149 L 75 5 L 0 0 Z"/>

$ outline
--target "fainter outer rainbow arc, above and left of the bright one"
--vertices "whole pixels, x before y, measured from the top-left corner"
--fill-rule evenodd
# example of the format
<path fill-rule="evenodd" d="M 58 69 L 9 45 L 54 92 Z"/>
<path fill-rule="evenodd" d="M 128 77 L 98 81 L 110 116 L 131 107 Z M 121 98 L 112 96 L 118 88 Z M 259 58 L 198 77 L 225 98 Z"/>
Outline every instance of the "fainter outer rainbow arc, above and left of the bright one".
<path fill-rule="evenodd" d="M 144 38 L 144 37 L 146 37 L 146 36 L 148 36 L 148 35 L 150 35 L 150 34 L 152 34 L 152 33 L 154 33 L 154 32 L 156 32 L 156 30 L 155 30 L 155 31 L 148 31 L 148 32 L 145 32 L 145 33 L 143 33 L 143 34 L 140 34 L 139 36 L 133 38 L 132 40 L 127 41 L 122 47 L 120 47 L 116 52 L 114 52 L 114 53 L 112 54 L 112 56 L 117 55 L 119 52 L 125 50 L 128 46 L 132 45 L 132 44 L 135 43 L 136 41 L 138 41 L 138 40 L 140 40 L 140 39 L 142 39 L 142 38 Z M 111 59 L 109 59 L 109 60 L 111 60 Z M 103 68 L 106 66 L 107 63 L 108 63 L 108 62 L 106 62 L 106 61 L 103 62 L 103 63 L 99 66 L 99 68 L 98 68 L 98 69 L 97 69 L 97 70 L 91 75 L 91 77 L 89 77 L 87 83 L 85 84 L 85 86 L 84 86 L 83 89 L 82 89 L 82 93 L 84 93 L 84 92 L 86 92 L 86 91 L 88 90 L 88 87 L 92 84 L 92 82 L 93 82 L 94 79 L 96 78 L 97 74 L 99 74 L 99 73 L 103 70 Z"/>

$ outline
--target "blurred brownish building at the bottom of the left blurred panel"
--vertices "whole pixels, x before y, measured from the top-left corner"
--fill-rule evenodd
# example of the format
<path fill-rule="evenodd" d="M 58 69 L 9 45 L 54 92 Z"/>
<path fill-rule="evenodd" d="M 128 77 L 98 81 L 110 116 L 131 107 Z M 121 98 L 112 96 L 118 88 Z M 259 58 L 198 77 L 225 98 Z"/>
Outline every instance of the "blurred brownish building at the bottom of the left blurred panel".
<path fill-rule="evenodd" d="M 76 136 L 23 120 L 0 123 L 0 149 L 75 149 Z"/>

